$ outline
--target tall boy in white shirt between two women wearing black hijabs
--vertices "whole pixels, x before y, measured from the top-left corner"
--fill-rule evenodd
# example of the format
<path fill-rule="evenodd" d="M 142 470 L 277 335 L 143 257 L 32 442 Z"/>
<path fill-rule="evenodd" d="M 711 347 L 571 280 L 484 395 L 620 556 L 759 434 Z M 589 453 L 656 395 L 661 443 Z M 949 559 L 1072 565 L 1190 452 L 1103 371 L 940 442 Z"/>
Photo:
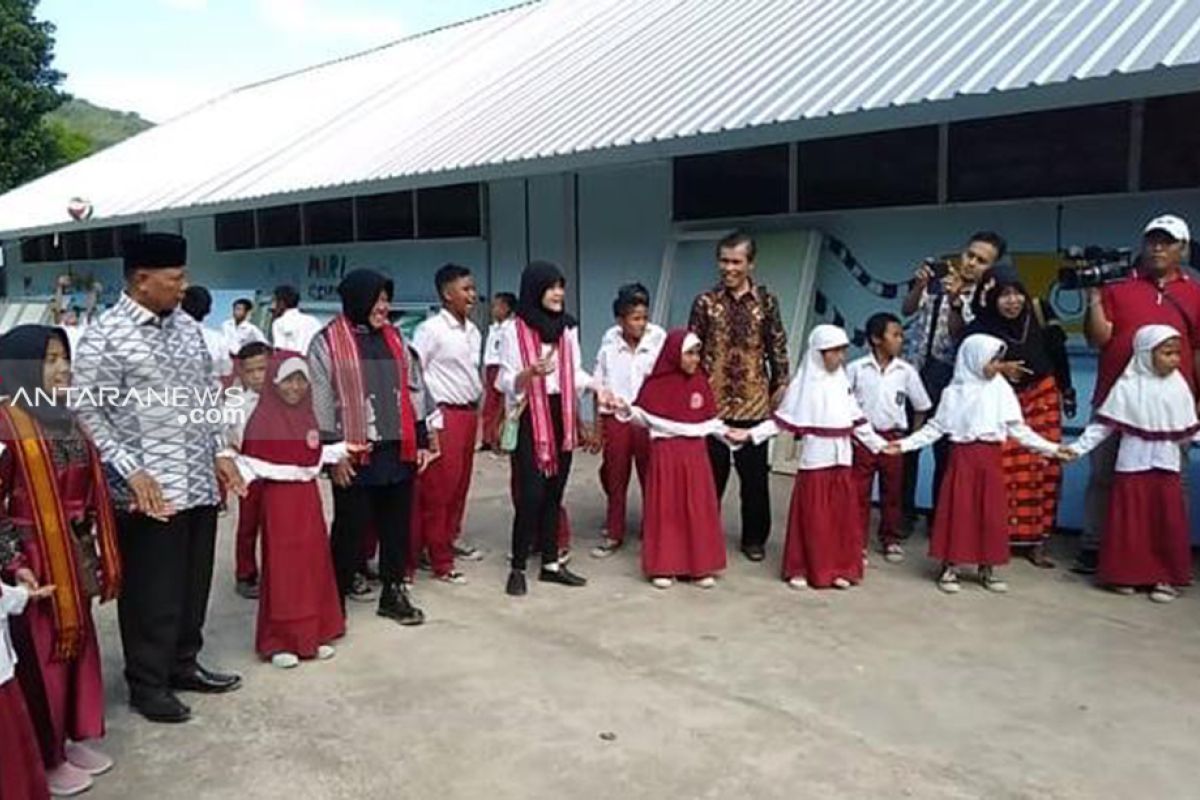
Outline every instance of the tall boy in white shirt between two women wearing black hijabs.
<path fill-rule="evenodd" d="M 467 579 L 455 569 L 455 540 L 462 530 L 475 461 L 478 408 L 484 391 L 479 360 L 484 342 L 470 321 L 476 300 L 470 270 L 446 264 L 434 276 L 434 284 L 442 311 L 421 323 L 413 335 L 413 350 L 421 361 L 425 386 L 442 416 L 440 456 L 416 482 L 420 535 L 428 548 L 433 577 L 462 584 Z M 464 554 L 464 558 L 470 557 Z"/>

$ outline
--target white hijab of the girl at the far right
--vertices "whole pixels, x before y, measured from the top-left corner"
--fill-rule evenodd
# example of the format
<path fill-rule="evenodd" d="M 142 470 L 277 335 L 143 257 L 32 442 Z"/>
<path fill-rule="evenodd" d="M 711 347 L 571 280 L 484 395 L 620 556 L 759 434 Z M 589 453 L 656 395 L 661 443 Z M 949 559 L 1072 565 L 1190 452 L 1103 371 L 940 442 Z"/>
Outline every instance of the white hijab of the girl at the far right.
<path fill-rule="evenodd" d="M 1154 372 L 1154 348 L 1180 332 L 1170 325 L 1144 325 L 1133 337 L 1133 357 L 1109 391 L 1096 419 L 1142 438 L 1184 439 L 1198 428 L 1195 399 L 1180 371 Z"/>

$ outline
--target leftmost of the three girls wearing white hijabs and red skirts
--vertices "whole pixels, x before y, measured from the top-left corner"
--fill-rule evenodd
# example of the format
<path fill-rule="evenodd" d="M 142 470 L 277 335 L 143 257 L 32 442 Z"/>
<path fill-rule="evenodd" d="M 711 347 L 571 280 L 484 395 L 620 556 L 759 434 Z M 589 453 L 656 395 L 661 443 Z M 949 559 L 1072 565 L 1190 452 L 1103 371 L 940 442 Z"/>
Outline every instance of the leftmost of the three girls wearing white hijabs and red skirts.
<path fill-rule="evenodd" d="M 774 420 L 749 432 L 755 443 L 787 431 L 800 439 L 784 545 L 784 581 L 793 589 L 848 589 L 863 579 L 863 518 L 851 437 L 874 453 L 887 441 L 871 428 L 844 365 L 850 339 L 835 325 L 809 335 L 804 366 Z"/>

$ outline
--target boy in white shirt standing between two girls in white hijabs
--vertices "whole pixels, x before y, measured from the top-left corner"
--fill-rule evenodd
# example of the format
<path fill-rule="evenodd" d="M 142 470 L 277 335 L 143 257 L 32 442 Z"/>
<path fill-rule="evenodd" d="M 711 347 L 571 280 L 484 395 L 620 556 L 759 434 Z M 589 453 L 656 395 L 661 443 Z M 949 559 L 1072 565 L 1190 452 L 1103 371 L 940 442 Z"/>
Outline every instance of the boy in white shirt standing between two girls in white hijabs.
<path fill-rule="evenodd" d="M 904 326 L 894 314 L 878 313 L 866 320 L 870 353 L 846 367 L 850 386 L 871 427 L 884 439 L 901 439 L 908 431 L 906 405 L 912 404 L 913 425 L 920 427 L 932 408 L 929 393 L 917 369 L 900 357 L 904 350 Z M 870 541 L 871 485 L 880 479 L 880 543 L 884 560 L 904 560 L 900 523 L 904 500 L 904 457 L 872 453 L 854 444 L 854 477 L 868 527 L 863 531 L 863 552 Z"/>

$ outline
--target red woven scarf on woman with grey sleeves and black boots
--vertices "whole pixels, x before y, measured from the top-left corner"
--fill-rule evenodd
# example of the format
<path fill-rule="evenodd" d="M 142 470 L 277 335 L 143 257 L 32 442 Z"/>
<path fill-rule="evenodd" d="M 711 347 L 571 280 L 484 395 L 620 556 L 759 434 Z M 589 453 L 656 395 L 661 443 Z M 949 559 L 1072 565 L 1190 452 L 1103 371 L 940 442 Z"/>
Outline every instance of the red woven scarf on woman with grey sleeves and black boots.
<path fill-rule="evenodd" d="M 325 327 L 329 351 L 334 361 L 334 389 L 342 414 L 342 435 L 348 444 L 367 444 L 366 384 L 362 378 L 362 361 L 359 344 L 354 338 L 354 325 L 344 314 Z M 408 353 L 404 339 L 392 325 L 383 326 L 384 342 L 396 362 L 397 413 L 400 415 L 400 459 L 416 461 L 416 413 L 408 390 Z M 379 398 L 385 402 L 386 398 Z M 370 453 L 355 456 L 365 463 Z"/>

